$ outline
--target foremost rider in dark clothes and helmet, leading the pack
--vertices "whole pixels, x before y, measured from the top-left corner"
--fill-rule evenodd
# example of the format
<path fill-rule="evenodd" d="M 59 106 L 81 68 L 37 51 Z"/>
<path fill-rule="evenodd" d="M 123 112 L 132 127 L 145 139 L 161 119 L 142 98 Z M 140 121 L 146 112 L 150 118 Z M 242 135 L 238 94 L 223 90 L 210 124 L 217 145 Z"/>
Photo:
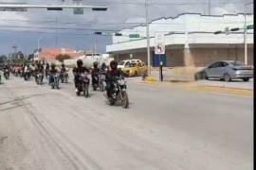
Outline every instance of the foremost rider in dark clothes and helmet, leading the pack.
<path fill-rule="evenodd" d="M 120 69 L 118 69 L 118 61 L 112 60 L 110 62 L 110 69 L 106 72 L 105 82 L 106 82 L 106 92 L 107 97 L 111 98 L 114 88 L 114 82 L 116 81 L 116 77 L 123 76 L 123 73 Z"/>

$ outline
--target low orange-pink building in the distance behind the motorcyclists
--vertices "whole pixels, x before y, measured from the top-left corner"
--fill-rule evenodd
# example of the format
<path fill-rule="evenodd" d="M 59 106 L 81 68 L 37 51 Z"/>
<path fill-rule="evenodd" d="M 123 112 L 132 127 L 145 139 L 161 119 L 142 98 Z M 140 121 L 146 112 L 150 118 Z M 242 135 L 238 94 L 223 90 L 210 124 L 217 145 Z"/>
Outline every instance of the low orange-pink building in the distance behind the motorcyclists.
<path fill-rule="evenodd" d="M 58 55 L 68 55 L 71 59 L 79 59 L 84 53 L 72 48 L 41 48 L 35 53 L 35 60 L 55 61 Z"/>

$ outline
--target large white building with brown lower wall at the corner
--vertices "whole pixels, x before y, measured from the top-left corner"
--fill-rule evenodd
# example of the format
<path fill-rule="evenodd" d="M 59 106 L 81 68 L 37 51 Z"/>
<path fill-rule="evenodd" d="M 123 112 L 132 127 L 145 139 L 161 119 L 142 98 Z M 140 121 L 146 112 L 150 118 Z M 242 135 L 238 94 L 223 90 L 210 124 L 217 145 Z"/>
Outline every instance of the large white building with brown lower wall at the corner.
<path fill-rule="evenodd" d="M 234 59 L 244 61 L 244 30 L 213 34 L 230 28 L 244 27 L 244 14 L 201 15 L 184 13 L 175 18 L 161 18 L 150 24 L 151 63 L 159 59 L 168 67 L 206 66 L 212 61 Z M 247 25 L 253 25 L 253 15 L 247 14 Z M 165 55 L 155 55 L 155 32 L 165 34 Z M 118 60 L 141 59 L 147 63 L 145 25 L 120 30 L 124 36 L 113 36 L 106 52 Z M 140 38 L 129 38 L 139 34 Z M 248 64 L 253 64 L 253 29 L 247 30 Z"/>

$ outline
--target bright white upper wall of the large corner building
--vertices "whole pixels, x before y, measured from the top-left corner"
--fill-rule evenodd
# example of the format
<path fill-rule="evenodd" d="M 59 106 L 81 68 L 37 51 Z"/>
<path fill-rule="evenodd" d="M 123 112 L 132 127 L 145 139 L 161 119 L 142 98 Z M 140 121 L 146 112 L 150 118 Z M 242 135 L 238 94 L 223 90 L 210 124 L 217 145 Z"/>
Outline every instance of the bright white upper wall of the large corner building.
<path fill-rule="evenodd" d="M 253 24 L 253 15 L 247 15 L 247 25 Z M 184 32 L 184 31 L 207 31 L 215 32 L 224 30 L 225 27 L 244 27 L 244 15 L 222 15 L 222 16 L 205 16 L 200 14 L 182 14 L 177 18 L 160 19 L 150 24 L 150 35 L 155 36 L 156 31 L 162 32 Z M 248 30 L 252 32 L 253 30 Z M 123 35 L 140 34 L 146 37 L 146 27 L 137 26 L 133 29 L 123 29 L 120 31 Z M 128 37 L 113 36 L 113 43 L 128 42 Z M 135 40 L 135 39 L 132 39 Z"/>

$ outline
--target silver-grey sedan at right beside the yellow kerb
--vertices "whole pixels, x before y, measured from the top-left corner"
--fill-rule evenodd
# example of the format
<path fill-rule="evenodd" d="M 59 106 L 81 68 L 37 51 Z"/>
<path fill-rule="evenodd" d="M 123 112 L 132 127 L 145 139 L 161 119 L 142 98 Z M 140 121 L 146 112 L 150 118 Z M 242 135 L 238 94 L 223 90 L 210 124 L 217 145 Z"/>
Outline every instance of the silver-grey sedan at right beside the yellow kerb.
<path fill-rule="evenodd" d="M 235 60 L 216 61 L 194 75 L 195 80 L 219 78 L 225 81 L 231 81 L 232 79 L 248 81 L 252 77 L 253 67 Z"/>

